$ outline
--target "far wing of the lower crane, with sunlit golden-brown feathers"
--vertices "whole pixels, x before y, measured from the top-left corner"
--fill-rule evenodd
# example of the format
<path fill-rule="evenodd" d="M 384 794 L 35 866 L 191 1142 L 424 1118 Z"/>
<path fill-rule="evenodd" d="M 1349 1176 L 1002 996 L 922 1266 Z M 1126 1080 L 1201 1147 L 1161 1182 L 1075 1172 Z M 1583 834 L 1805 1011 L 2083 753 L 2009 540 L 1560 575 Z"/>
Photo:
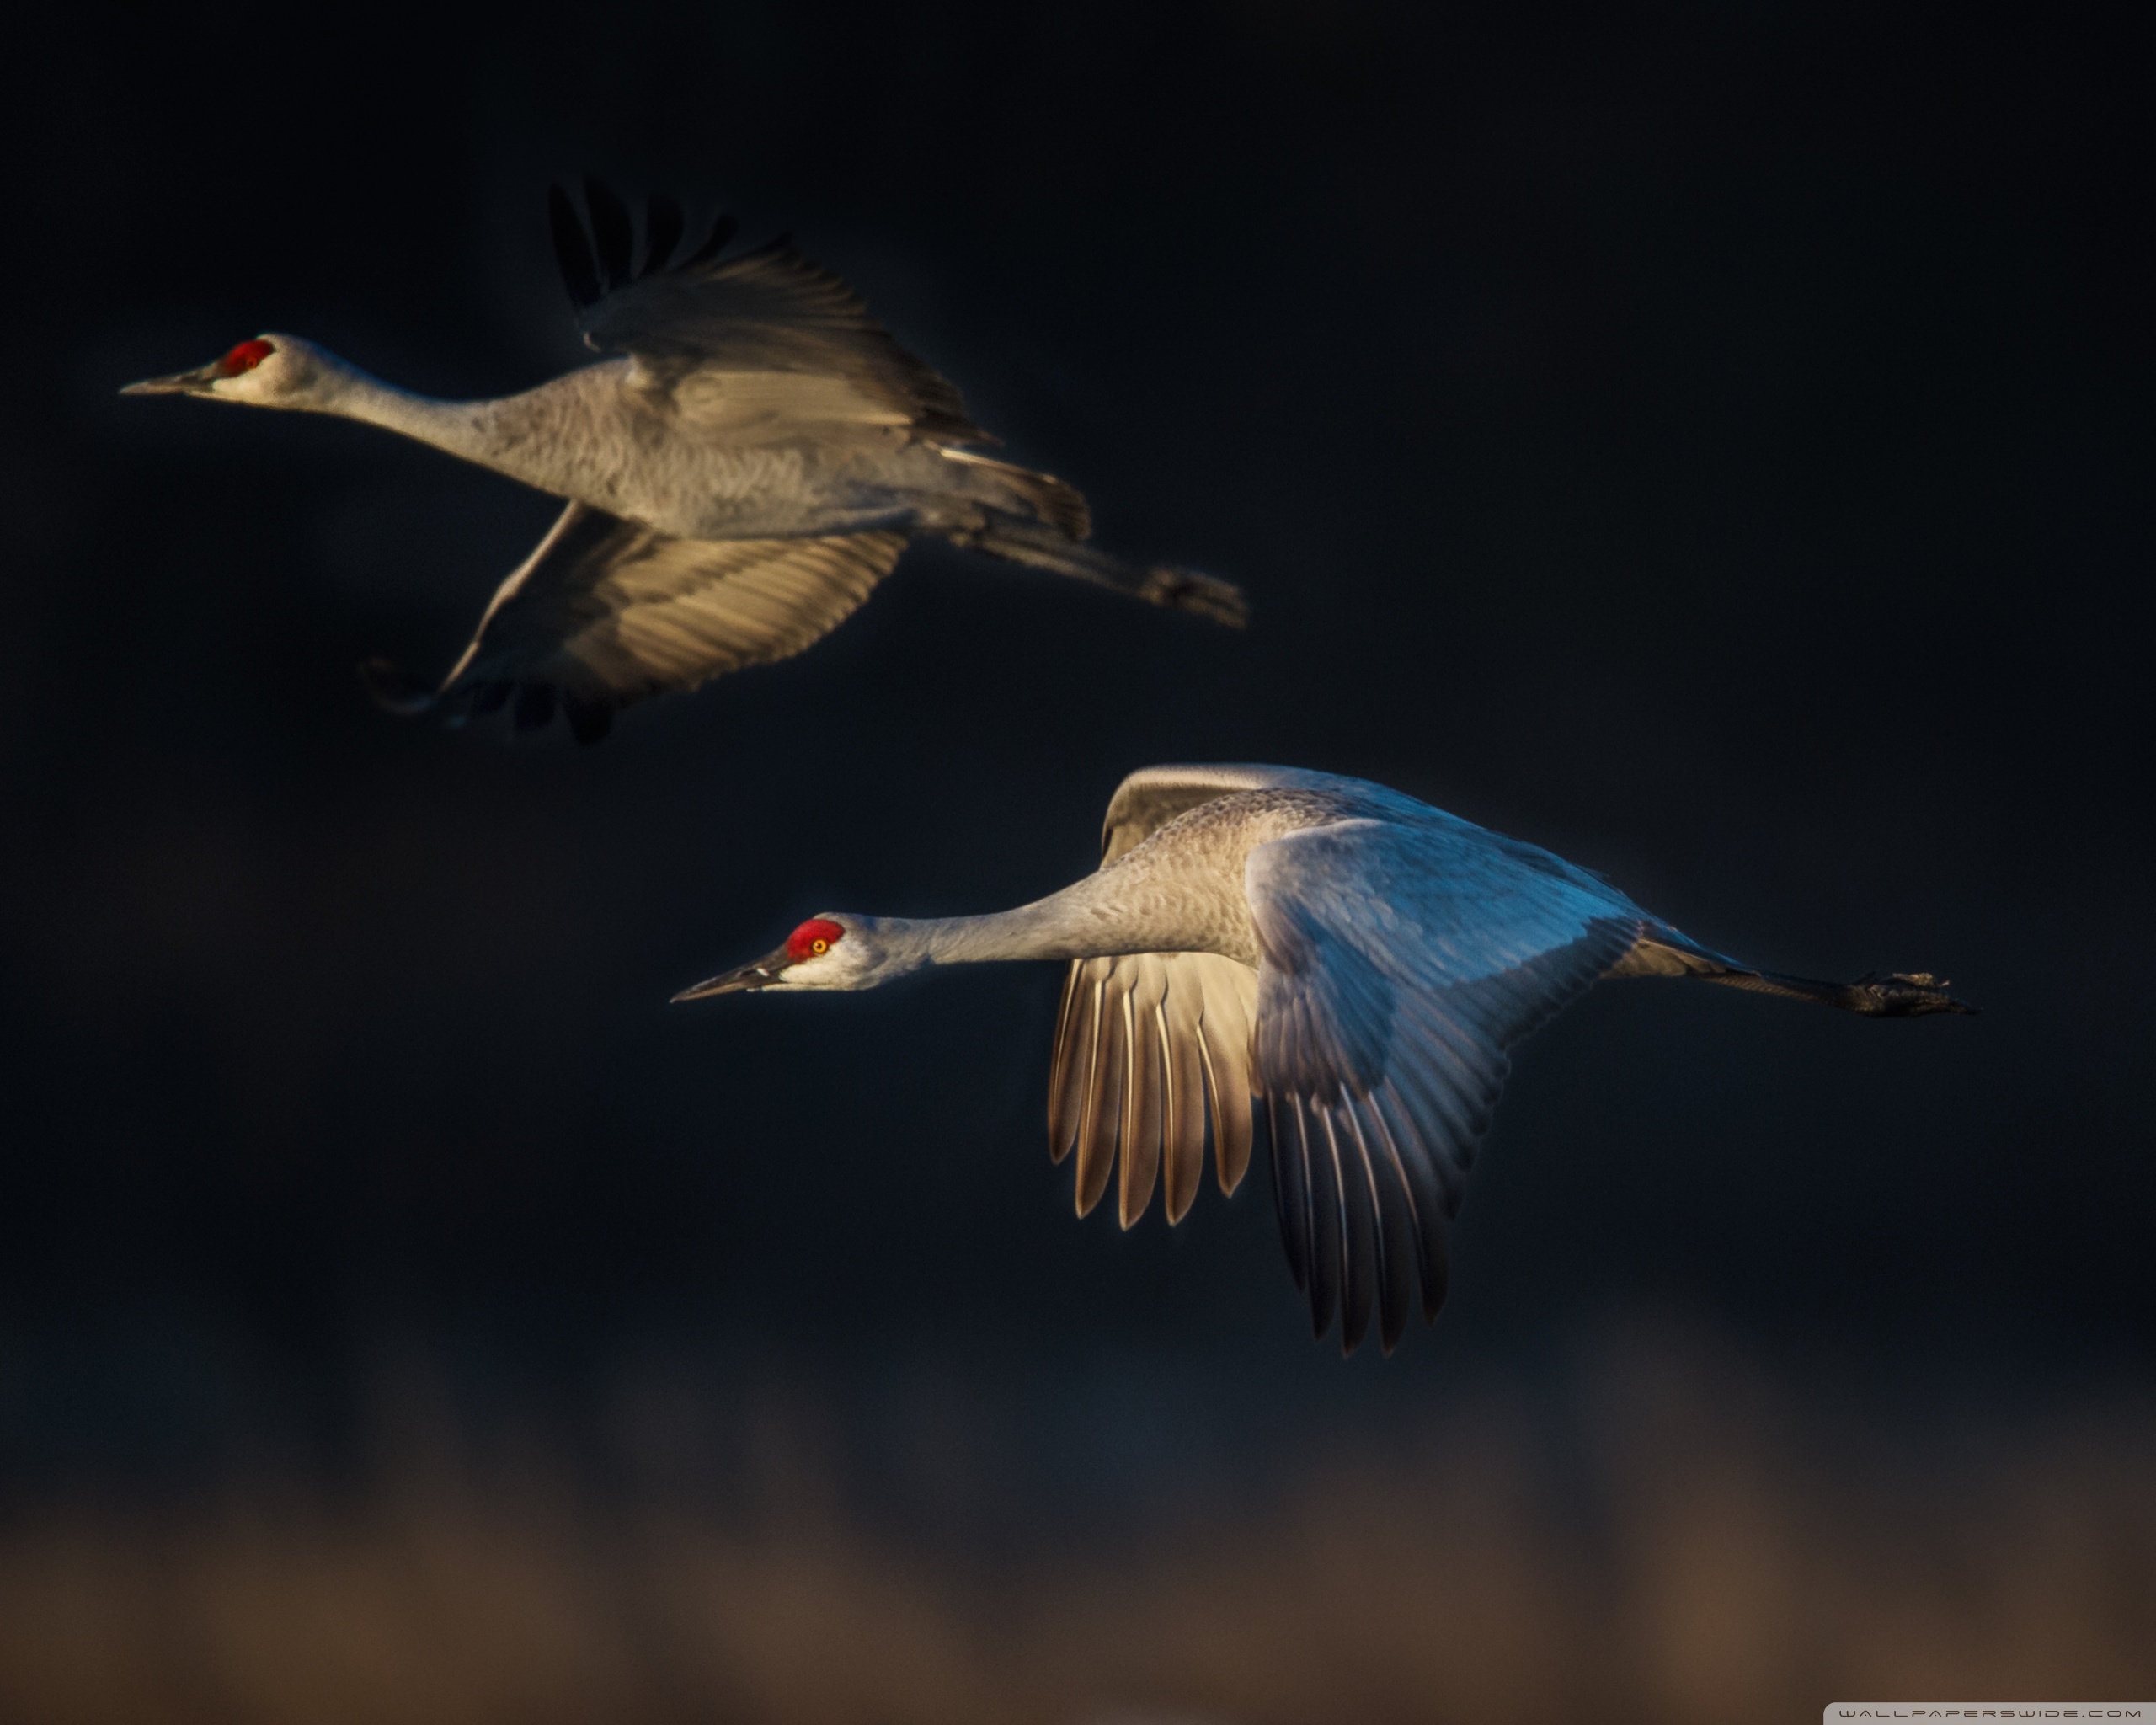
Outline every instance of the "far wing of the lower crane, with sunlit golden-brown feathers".
<path fill-rule="evenodd" d="M 1100 832 L 1108 867 L 1177 815 L 1231 791 L 1311 774 L 1259 765 L 1143 768 L 1117 785 Z M 1076 960 L 1063 983 L 1048 1074 L 1048 1154 L 1078 1151 L 1078 1214 L 1121 1164 L 1119 1216 L 1130 1227 L 1160 1179 L 1169 1223 L 1199 1195 L 1207 1119 L 1214 1169 L 1233 1192 L 1250 1167 L 1250 1024 L 1257 972 L 1214 953 Z"/>

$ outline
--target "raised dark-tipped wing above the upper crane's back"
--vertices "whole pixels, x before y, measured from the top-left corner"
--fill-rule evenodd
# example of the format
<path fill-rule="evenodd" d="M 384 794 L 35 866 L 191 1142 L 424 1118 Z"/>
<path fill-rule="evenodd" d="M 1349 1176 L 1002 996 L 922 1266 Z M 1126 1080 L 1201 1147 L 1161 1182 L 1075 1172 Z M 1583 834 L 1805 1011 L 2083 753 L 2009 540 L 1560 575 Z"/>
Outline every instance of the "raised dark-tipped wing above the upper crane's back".
<path fill-rule="evenodd" d="M 683 412 L 731 425 L 815 425 L 918 438 L 931 444 L 994 442 L 944 377 L 899 347 L 860 295 L 785 239 L 722 257 L 733 218 L 679 265 L 681 209 L 653 198 L 645 216 L 645 267 L 634 261 L 627 209 L 584 181 L 597 242 L 556 185 L 550 201 L 563 278 L 582 313 L 578 328 L 602 354 L 630 354 L 636 375 L 675 395 Z M 746 403 L 746 405 L 744 405 Z"/>

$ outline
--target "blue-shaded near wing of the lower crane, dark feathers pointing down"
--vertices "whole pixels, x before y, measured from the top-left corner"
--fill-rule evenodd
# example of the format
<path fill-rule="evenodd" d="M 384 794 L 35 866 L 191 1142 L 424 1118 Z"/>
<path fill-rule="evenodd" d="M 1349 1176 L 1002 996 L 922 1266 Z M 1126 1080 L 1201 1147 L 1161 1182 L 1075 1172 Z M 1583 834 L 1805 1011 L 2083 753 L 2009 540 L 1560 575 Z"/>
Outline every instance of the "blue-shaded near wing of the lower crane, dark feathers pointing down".
<path fill-rule="evenodd" d="M 1434 813 L 1434 811 L 1432 811 Z M 1250 852 L 1255 1076 L 1281 1240 L 1324 1335 L 1399 1341 L 1505 1085 L 1505 1050 L 1583 994 L 1645 916 L 1546 852 L 1438 817 L 1345 819 Z"/>

